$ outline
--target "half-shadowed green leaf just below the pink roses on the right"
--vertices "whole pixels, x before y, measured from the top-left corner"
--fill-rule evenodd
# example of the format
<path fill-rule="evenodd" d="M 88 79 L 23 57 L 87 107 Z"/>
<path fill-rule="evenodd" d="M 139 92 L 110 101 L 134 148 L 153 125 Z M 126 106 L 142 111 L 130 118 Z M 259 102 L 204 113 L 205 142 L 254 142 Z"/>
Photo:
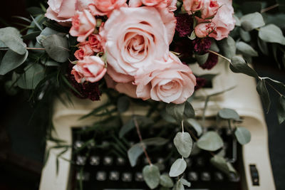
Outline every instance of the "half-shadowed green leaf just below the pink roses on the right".
<path fill-rule="evenodd" d="M 224 38 L 221 41 L 217 41 L 217 44 L 221 50 L 222 55 L 225 57 L 232 58 L 236 55 L 236 42 L 231 36 Z"/>

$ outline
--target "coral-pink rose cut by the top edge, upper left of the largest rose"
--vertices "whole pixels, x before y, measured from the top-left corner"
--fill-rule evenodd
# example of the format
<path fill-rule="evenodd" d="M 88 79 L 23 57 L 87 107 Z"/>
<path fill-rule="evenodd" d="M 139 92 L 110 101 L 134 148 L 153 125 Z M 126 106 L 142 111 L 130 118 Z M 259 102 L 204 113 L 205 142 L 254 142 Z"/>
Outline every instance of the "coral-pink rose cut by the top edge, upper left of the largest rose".
<path fill-rule="evenodd" d="M 93 15 L 109 16 L 110 13 L 119 9 L 121 6 L 127 6 L 127 0 L 93 0 L 89 5 L 89 9 Z"/>

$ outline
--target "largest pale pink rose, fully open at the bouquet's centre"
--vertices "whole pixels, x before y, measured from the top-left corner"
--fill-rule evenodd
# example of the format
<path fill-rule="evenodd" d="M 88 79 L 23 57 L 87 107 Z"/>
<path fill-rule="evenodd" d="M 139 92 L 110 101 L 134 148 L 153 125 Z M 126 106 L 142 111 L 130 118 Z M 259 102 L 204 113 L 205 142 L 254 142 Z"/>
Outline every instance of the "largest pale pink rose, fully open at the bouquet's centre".
<path fill-rule="evenodd" d="M 131 78 L 126 80 L 123 76 L 135 76 L 139 70 L 143 73 L 153 60 L 167 58 L 175 23 L 173 13 L 148 6 L 113 11 L 100 31 L 108 65 L 114 71 L 108 69 L 110 77 L 128 83 Z"/>

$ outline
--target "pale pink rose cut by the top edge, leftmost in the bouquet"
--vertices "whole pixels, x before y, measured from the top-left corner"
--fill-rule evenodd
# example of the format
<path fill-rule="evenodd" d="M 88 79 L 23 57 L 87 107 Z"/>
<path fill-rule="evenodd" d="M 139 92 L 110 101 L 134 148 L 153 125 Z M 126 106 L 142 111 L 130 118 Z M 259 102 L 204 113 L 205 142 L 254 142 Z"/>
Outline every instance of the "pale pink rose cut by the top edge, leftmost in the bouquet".
<path fill-rule="evenodd" d="M 71 23 L 76 11 L 88 9 L 91 0 L 48 0 L 46 17 L 59 23 Z"/>

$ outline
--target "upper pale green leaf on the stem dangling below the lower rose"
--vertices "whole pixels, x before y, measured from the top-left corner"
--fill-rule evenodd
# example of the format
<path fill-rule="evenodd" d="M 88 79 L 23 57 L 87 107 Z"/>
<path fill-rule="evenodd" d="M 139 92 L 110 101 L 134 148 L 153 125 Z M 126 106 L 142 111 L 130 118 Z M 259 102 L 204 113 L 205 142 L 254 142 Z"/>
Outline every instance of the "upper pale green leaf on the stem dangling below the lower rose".
<path fill-rule="evenodd" d="M 188 132 L 177 132 L 174 138 L 174 144 L 182 157 L 189 157 L 192 150 L 192 138 Z"/>

